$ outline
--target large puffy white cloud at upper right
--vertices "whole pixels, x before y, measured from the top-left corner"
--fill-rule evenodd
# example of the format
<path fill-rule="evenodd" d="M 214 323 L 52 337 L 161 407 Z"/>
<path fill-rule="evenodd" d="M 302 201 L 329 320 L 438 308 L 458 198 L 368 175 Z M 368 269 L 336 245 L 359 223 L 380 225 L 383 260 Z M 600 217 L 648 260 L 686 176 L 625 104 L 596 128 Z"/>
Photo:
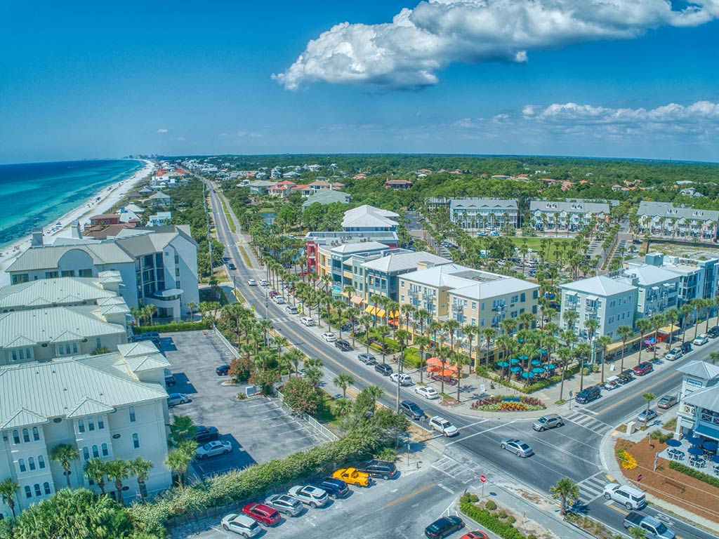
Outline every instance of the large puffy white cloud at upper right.
<path fill-rule="evenodd" d="M 273 78 L 289 90 L 315 81 L 418 88 L 438 83 L 436 71 L 450 63 L 524 63 L 528 50 L 631 39 L 717 17 L 719 0 L 681 10 L 667 0 L 421 1 L 390 23 L 336 24 Z"/>

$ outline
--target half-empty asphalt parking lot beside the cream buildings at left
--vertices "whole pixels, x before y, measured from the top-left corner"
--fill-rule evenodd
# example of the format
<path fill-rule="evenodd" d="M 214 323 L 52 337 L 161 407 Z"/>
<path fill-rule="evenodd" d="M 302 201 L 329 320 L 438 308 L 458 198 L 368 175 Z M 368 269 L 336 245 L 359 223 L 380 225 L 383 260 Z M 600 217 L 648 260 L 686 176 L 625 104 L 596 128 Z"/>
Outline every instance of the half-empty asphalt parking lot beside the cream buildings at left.
<path fill-rule="evenodd" d="M 244 387 L 224 386 L 227 377 L 215 367 L 228 361 L 226 350 L 211 331 L 164 333 L 162 350 L 172 364 L 177 384 L 168 392 L 186 393 L 191 402 L 170 408 L 170 415 L 189 415 L 196 425 L 214 426 L 220 440 L 232 443 L 232 452 L 195 461 L 199 476 L 241 469 L 279 459 L 326 442 L 303 420 L 291 415 L 275 398 L 238 401 Z"/>

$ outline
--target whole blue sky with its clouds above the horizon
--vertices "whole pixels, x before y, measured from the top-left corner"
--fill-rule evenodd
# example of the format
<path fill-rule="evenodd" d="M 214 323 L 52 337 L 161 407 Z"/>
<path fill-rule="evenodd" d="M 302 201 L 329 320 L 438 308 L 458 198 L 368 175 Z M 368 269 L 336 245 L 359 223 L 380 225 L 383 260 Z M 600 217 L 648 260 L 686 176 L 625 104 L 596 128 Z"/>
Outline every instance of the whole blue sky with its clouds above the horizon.
<path fill-rule="evenodd" d="M 719 160 L 717 0 L 690 11 L 662 0 L 605 11 L 590 0 L 487 1 L 5 1 L 0 162 L 287 152 Z"/>

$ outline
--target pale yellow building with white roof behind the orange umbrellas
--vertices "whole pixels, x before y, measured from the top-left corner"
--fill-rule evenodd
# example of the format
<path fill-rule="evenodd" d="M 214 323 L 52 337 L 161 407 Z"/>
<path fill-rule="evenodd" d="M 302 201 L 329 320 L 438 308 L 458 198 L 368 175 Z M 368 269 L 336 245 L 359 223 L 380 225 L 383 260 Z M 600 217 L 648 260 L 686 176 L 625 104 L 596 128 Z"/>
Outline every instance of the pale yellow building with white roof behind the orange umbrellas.
<path fill-rule="evenodd" d="M 498 328 L 505 318 L 537 312 L 539 285 L 459 264 L 418 262 L 398 280 L 400 305 L 425 309 L 439 321 Z"/>

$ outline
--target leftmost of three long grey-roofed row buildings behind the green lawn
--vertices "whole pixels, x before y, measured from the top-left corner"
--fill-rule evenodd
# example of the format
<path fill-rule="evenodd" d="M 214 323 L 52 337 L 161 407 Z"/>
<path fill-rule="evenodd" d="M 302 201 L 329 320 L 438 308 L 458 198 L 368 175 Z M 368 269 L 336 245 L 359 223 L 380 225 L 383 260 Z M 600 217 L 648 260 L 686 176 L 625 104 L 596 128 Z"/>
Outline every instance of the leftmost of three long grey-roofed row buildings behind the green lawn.
<path fill-rule="evenodd" d="M 470 233 L 500 230 L 519 226 L 519 206 L 516 200 L 454 198 L 449 203 L 449 218 Z"/>

